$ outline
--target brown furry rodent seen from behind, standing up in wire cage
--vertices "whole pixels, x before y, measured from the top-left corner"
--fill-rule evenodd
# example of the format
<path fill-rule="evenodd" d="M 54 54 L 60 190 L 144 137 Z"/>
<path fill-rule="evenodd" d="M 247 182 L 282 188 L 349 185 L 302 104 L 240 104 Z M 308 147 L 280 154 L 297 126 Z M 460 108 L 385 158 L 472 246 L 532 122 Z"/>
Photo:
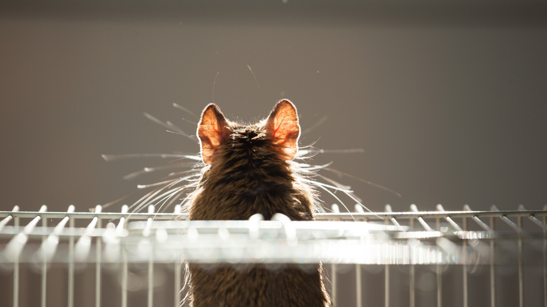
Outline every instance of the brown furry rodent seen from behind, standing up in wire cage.
<path fill-rule="evenodd" d="M 294 221 L 313 220 L 316 191 L 301 180 L 293 158 L 300 125 L 294 104 L 283 99 L 254 125 L 230 122 L 209 104 L 197 125 L 203 169 L 189 196 L 190 220 L 265 220 L 281 213 Z M 321 264 L 187 264 L 191 307 L 330 307 Z"/>

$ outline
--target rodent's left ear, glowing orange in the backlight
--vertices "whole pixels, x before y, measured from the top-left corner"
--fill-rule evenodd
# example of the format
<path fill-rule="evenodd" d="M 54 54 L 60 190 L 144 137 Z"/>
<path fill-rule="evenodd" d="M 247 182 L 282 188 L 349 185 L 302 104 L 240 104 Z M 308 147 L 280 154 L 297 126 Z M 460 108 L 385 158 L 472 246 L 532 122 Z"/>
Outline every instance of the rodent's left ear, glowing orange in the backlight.
<path fill-rule="evenodd" d="M 226 140 L 230 134 L 230 123 L 216 104 L 210 103 L 203 109 L 197 124 L 197 137 L 200 139 L 201 158 L 211 165 L 214 149 Z"/>

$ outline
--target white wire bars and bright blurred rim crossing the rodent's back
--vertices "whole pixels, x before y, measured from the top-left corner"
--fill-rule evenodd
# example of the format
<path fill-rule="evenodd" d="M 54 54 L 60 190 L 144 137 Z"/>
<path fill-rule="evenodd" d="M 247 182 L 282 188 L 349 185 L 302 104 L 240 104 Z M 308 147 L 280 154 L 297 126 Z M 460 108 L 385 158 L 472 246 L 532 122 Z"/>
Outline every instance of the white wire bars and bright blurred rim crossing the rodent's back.
<path fill-rule="evenodd" d="M 0 238 L 8 239 L 7 244 L 0 245 L 0 263 L 13 264 L 14 307 L 19 307 L 19 270 L 20 264 L 24 262 L 41 263 L 42 307 L 46 306 L 48 294 L 46 281 L 49 262 L 66 263 L 68 267 L 68 307 L 74 306 L 74 266 L 78 262 L 95 263 L 96 307 L 101 306 L 102 265 L 108 262 L 121 263 L 122 307 L 127 306 L 127 273 L 131 262 L 148 263 L 149 307 L 153 307 L 154 302 L 154 264 L 171 263 L 174 269 L 174 302 L 178 303 L 182 300 L 182 255 L 187 261 L 207 263 L 322 261 L 325 265 L 330 265 L 331 297 L 334 302 L 339 282 L 336 266 L 354 263 L 357 307 L 363 305 L 362 265 L 385 266 L 385 307 L 391 306 L 390 297 L 394 295 L 390 291 L 390 269 L 393 265 L 406 264 L 409 267 L 410 307 L 416 306 L 416 264 L 461 264 L 464 307 L 469 306 L 469 265 L 486 265 L 490 273 L 490 305 L 495 307 L 496 243 L 507 237 L 495 231 L 496 221 L 502 220 L 512 229 L 513 237 L 517 241 L 519 307 L 525 306 L 523 245 L 525 239 L 534 237 L 534 233 L 540 231 L 536 239 L 543 240 L 543 298 L 544 306 L 547 307 L 547 206 L 544 210 L 536 211 L 527 211 L 522 205 L 516 211 L 499 211 L 496 206 L 492 206 L 490 211 L 472 211 L 467 205 L 463 211 L 445 211 L 441 205 L 437 206 L 437 211 L 418 211 L 415 205 L 411 205 L 408 212 L 392 212 L 389 205 L 386 205 L 386 212 L 363 212 L 358 208 L 361 207 L 356 206 L 355 213 L 341 213 L 333 205 L 334 213 L 317 214 L 317 222 L 290 222 L 282 216 L 272 221 L 252 219 L 188 222 L 174 221 L 184 219 L 179 206 L 171 214 L 155 213 L 153 206 L 149 207 L 148 213 L 134 214 L 127 212 L 127 206 L 119 213 L 101 212 L 101 206 L 97 206 L 95 212 L 74 212 L 72 205 L 66 212 L 48 212 L 46 206 L 42 206 L 38 212 L 22 212 L 15 206 L 12 211 L 0 211 Z M 30 222 L 20 226 L 20 219 Z M 60 221 L 54 227 L 48 227 L 48 219 Z M 128 219 L 135 222 L 128 223 Z M 468 231 L 469 219 L 481 231 Z M 513 221 L 515 219 L 516 222 Z M 531 220 L 539 228 L 524 231 L 523 219 Z M 41 226 L 37 226 L 40 220 Z M 76 228 L 76 220 L 90 222 L 85 228 Z M 104 221 L 108 223 L 103 228 Z M 408 226 L 401 226 L 399 222 Z M 181 229 L 185 231 L 182 232 Z M 202 250 L 195 252 L 197 238 L 197 245 Z M 203 247 L 207 247 L 207 239 L 211 239 L 208 242 L 214 245 L 213 250 L 217 253 L 211 252 L 211 246 L 203 253 Z M 310 241 L 315 248 L 310 249 L 310 245 L 306 245 Z M 242 249 L 234 249 L 234 245 L 242 242 L 245 243 Z M 224 243 L 224 247 L 219 247 L 220 243 Z M 259 247 L 253 245 L 256 243 L 260 244 Z M 345 245 L 329 245 L 333 243 Z M 317 246 L 328 248 L 317 249 Z M 340 246 L 350 248 L 344 250 Z M 304 250 L 298 250 L 302 247 Z M 379 248 L 379 256 L 370 257 L 373 253 L 371 247 Z M 283 252 L 282 257 L 279 253 L 272 257 L 267 252 L 253 255 L 257 250 L 268 248 L 271 251 L 293 249 L 299 256 L 295 257 L 290 252 Z M 218 252 L 219 249 L 223 252 Z M 208 255 L 208 258 L 203 255 Z M 443 270 L 438 269 L 436 274 L 437 306 L 441 307 Z"/>

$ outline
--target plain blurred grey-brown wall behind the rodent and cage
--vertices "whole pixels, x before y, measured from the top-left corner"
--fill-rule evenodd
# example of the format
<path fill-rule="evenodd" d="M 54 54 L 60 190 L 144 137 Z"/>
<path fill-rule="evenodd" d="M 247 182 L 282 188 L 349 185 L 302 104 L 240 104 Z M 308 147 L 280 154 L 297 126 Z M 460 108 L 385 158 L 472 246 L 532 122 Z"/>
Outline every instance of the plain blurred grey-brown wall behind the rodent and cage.
<path fill-rule="evenodd" d="M 0 210 L 88 211 L 154 182 L 122 177 L 169 160 L 105 162 L 101 154 L 199 152 L 143 113 L 195 133 L 199 118 L 172 104 L 199 115 L 217 73 L 214 102 L 229 119 L 253 122 L 288 98 L 302 130 L 311 129 L 301 145 L 363 149 L 314 163 L 333 161 L 401 194 L 337 179 L 371 210 L 538 210 L 547 203 L 546 67 L 544 1 L 3 1 Z M 487 282 L 482 273 L 470 288 Z M 21 291 L 32 293 L 39 275 L 25 274 Z M 9 276 L 0 273 L 0 284 L 9 288 Z M 365 286 L 382 293 L 382 276 L 368 268 Z M 507 276 L 500 296 L 503 287 L 516 291 Z M 527 286 L 539 289 L 540 278 Z M 458 283 L 445 281 L 454 289 L 447 305 L 461 304 Z M 408 300 L 407 287 L 401 281 L 395 303 Z M 340 306 L 354 304 L 352 291 L 339 291 Z M 105 305 L 117 299 L 104 297 Z M 433 304 L 434 287 L 417 299 Z M 383 297 L 364 301 L 377 306 Z M 508 295 L 499 306 L 516 302 Z"/>

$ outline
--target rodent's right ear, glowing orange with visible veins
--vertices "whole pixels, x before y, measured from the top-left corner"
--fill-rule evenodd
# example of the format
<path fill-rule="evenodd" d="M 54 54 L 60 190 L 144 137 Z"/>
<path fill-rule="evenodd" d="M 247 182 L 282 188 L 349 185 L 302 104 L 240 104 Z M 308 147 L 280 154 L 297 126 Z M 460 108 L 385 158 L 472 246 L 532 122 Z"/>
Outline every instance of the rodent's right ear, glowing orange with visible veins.
<path fill-rule="evenodd" d="M 287 99 L 278 102 L 266 119 L 264 128 L 272 143 L 282 146 L 287 160 L 293 160 L 298 152 L 300 125 L 294 104 Z"/>

